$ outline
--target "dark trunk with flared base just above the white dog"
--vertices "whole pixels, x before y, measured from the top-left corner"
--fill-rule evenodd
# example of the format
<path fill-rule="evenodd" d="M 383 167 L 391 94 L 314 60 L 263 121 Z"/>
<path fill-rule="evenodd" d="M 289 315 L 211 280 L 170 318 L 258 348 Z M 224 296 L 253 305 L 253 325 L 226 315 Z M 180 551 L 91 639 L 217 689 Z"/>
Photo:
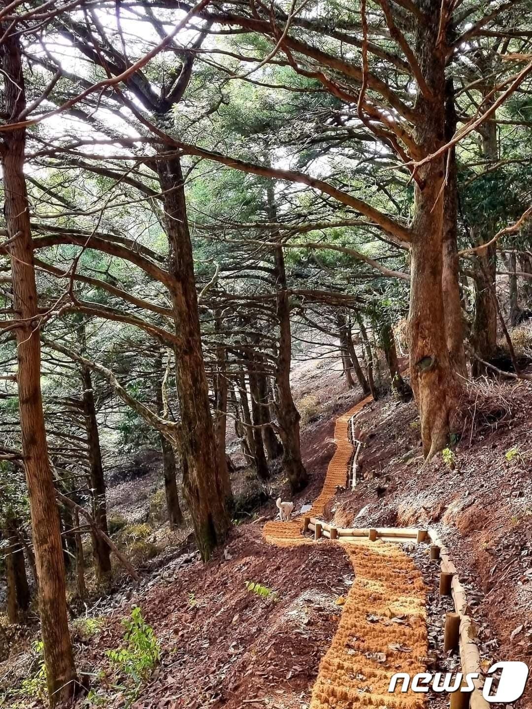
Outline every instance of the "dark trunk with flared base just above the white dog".
<path fill-rule="evenodd" d="M 267 187 L 268 211 L 275 221 L 275 195 L 272 184 Z M 275 236 L 273 237 L 275 238 Z M 292 489 L 299 492 L 309 482 L 301 461 L 301 440 L 299 437 L 299 411 L 297 411 L 290 387 L 290 366 L 292 364 L 292 331 L 290 329 L 290 303 L 287 292 L 287 273 L 284 268 L 282 247 L 274 249 L 275 285 L 277 286 L 277 320 L 279 321 L 279 352 L 275 384 L 277 386 L 277 421 L 283 447 L 282 465 Z"/>

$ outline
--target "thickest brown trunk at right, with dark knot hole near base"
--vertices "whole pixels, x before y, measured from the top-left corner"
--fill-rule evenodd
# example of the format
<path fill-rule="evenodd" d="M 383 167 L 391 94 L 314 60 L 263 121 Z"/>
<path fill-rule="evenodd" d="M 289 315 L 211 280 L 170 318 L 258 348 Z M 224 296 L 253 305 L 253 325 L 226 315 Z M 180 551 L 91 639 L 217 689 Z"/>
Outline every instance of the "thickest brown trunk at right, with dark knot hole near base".
<path fill-rule="evenodd" d="M 416 54 L 432 99 L 418 91 L 416 143 L 423 155 L 443 144 L 445 135 L 445 60 L 436 47 L 440 1 L 426 0 L 431 23 L 419 24 Z M 455 403 L 455 377 L 445 339 L 443 307 L 443 177 L 438 157 L 417 172 L 411 242 L 410 374 L 421 420 L 423 454 L 432 457 L 447 445 L 450 412 Z"/>

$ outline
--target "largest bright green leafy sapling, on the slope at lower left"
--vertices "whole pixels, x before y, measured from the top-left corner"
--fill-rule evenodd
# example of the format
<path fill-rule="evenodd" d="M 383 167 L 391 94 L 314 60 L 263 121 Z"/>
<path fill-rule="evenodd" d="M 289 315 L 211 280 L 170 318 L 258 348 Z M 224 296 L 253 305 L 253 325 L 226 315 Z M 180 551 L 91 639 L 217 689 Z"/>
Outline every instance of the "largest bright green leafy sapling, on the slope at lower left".
<path fill-rule="evenodd" d="M 131 706 L 138 697 L 140 685 L 159 663 L 161 649 L 153 627 L 145 622 L 137 605 L 131 610 L 131 618 L 123 618 L 122 625 L 126 628 L 125 647 L 107 650 L 106 655 L 126 679 L 126 706 Z"/>

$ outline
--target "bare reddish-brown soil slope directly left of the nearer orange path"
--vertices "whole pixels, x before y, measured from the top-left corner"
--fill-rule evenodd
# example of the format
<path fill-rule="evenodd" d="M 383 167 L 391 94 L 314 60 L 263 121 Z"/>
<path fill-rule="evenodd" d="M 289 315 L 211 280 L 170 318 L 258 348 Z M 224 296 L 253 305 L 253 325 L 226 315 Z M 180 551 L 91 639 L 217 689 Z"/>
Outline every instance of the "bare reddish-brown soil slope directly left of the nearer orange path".
<path fill-rule="evenodd" d="M 120 618 L 138 603 L 163 657 L 135 707 L 237 709 L 253 706 L 253 699 L 279 709 L 308 705 L 340 616 L 336 600 L 353 583 L 340 547 L 276 549 L 262 541 L 259 525 L 246 525 L 234 532 L 226 554 L 166 575 L 115 611 L 82 652 L 87 666 L 106 665 L 104 651 L 121 644 Z M 245 581 L 272 595 L 260 598 Z M 121 706 L 120 700 L 109 706 Z"/>

